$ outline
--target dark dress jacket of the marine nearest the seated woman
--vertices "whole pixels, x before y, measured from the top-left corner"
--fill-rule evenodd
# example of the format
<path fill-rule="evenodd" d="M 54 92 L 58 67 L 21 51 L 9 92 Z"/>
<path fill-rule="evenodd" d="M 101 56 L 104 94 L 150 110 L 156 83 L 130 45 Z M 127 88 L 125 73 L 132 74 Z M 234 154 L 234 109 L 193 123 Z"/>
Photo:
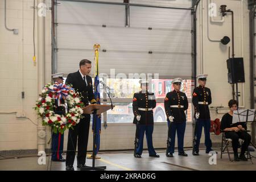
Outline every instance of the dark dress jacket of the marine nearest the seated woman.
<path fill-rule="evenodd" d="M 212 104 L 212 94 L 210 89 L 205 86 L 197 86 L 193 90 L 193 105 L 195 114 L 200 113 L 199 119 L 210 119 L 209 106 Z"/>

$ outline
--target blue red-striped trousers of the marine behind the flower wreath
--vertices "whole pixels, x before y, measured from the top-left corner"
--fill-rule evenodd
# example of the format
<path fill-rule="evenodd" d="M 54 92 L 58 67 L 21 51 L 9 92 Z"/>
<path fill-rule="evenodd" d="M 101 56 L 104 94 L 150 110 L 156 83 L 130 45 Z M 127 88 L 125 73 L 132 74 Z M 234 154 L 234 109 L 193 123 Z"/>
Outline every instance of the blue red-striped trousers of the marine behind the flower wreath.
<path fill-rule="evenodd" d="M 52 160 L 62 159 L 64 134 L 52 134 Z"/>

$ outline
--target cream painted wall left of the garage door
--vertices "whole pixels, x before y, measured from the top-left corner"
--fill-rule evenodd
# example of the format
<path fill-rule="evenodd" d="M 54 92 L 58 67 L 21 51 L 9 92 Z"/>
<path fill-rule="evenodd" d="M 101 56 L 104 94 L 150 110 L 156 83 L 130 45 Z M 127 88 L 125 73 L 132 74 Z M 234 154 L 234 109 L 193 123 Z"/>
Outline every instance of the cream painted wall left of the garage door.
<path fill-rule="evenodd" d="M 5 29 L 4 2 L 0 1 L 0 151 L 37 148 L 37 117 L 34 107 L 38 98 L 38 61 L 33 63 L 33 1 L 7 1 L 7 26 L 18 28 L 19 34 Z M 47 2 L 47 1 L 46 1 Z M 48 1 L 50 2 L 50 1 Z M 37 16 L 35 41 L 37 55 Z M 51 12 L 46 23 L 46 77 L 51 81 Z M 22 100 L 21 92 L 25 92 Z M 5 114 L 10 113 L 10 114 Z M 24 113 L 27 118 L 17 118 Z"/>

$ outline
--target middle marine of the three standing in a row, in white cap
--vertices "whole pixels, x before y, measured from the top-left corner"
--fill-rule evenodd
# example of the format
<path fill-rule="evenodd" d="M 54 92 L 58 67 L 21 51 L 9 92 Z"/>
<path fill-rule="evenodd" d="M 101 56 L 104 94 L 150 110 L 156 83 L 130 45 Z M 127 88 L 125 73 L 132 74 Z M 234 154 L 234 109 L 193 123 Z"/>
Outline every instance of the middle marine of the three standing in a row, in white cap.
<path fill-rule="evenodd" d="M 168 123 L 167 157 L 173 157 L 176 131 L 178 155 L 188 156 L 183 149 L 186 127 L 185 110 L 188 109 L 188 99 L 185 93 L 180 92 L 181 82 L 182 78 L 175 78 L 172 81 L 174 90 L 172 92 L 168 92 L 164 99 L 164 109 L 166 110 Z"/>

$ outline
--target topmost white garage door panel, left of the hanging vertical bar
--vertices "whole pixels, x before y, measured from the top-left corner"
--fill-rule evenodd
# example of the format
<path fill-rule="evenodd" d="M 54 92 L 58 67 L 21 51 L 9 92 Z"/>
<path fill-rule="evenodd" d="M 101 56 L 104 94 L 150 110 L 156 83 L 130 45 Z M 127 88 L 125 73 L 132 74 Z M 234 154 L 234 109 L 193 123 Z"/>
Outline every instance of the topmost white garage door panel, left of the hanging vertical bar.
<path fill-rule="evenodd" d="M 125 26 L 125 6 L 60 1 L 57 23 Z"/>

